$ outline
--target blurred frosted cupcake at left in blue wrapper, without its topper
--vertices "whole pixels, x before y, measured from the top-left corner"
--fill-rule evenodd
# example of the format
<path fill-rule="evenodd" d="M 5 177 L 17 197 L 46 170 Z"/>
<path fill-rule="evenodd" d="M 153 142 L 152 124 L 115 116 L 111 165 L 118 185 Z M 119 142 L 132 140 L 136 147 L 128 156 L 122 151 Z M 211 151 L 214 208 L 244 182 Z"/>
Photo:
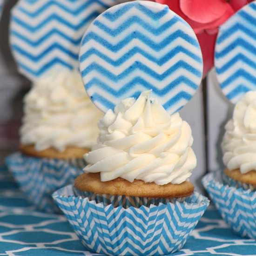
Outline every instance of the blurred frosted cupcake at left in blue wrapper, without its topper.
<path fill-rule="evenodd" d="M 77 71 L 52 71 L 25 96 L 20 152 L 6 162 L 38 209 L 58 211 L 51 194 L 81 174 L 83 155 L 96 141 L 101 116 Z"/>

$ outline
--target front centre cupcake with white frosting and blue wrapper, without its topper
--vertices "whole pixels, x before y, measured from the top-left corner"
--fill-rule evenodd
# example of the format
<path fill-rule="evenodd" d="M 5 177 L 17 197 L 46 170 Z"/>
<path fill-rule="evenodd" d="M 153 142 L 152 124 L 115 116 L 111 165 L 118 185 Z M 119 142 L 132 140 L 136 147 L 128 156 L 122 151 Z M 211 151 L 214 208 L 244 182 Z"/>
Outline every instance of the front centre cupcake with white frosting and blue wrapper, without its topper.
<path fill-rule="evenodd" d="M 82 243 L 107 255 L 181 249 L 209 204 L 189 182 L 189 124 L 146 91 L 108 110 L 98 126 L 85 173 L 53 194 Z"/>

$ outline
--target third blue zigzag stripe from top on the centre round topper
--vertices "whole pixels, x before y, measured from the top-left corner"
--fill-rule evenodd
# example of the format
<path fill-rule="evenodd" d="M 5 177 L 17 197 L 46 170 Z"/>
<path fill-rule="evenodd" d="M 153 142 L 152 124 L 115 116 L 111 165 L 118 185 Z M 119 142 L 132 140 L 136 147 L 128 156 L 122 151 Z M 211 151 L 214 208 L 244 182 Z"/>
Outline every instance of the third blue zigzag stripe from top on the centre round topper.
<path fill-rule="evenodd" d="M 193 46 L 198 46 L 198 41 L 195 38 L 190 37 L 188 34 L 184 33 L 181 30 L 175 31 L 173 34 L 167 36 L 164 40 L 162 40 L 159 43 L 156 43 L 155 41 L 148 38 L 146 35 L 142 34 L 139 31 L 135 31 L 134 34 L 129 34 L 127 37 L 125 37 L 123 40 L 121 40 L 119 43 L 113 45 L 105 38 L 101 37 L 99 34 L 96 34 L 94 32 L 90 32 L 87 34 L 86 37 L 82 39 L 81 44 L 85 45 L 90 40 L 94 40 L 97 43 L 101 44 L 102 46 L 106 47 L 108 50 L 111 50 L 112 52 L 116 53 L 119 50 L 121 50 L 123 47 L 126 47 L 134 38 L 140 40 L 141 42 L 145 43 L 147 46 L 151 47 L 155 51 L 160 51 L 166 45 L 171 44 L 173 41 L 175 41 L 177 38 L 182 38 L 188 42 L 188 44 L 191 44 Z"/>

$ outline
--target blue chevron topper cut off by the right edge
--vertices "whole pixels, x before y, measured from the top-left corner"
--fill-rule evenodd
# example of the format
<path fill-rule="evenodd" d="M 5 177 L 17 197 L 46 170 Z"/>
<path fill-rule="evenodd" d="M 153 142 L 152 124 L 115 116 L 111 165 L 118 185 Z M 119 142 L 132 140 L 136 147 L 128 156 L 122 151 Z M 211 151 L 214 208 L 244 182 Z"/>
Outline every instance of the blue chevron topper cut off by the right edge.
<path fill-rule="evenodd" d="M 256 1 L 220 27 L 215 49 L 217 79 L 229 101 L 256 90 Z"/>

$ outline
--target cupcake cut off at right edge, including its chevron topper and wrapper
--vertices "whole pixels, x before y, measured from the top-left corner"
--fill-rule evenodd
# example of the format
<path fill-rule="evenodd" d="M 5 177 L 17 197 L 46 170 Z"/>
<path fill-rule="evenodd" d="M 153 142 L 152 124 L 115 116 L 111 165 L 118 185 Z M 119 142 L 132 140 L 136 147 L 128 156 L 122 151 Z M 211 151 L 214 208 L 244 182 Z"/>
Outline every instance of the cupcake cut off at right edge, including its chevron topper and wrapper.
<path fill-rule="evenodd" d="M 256 239 L 256 69 L 252 2 L 219 29 L 215 47 L 216 75 L 223 94 L 235 104 L 222 138 L 224 170 L 202 183 L 222 218 L 240 236 Z M 243 24 L 243 26 L 241 26 Z M 244 28 L 250 28 L 250 35 Z M 248 50 L 248 51 L 247 51 Z"/>

